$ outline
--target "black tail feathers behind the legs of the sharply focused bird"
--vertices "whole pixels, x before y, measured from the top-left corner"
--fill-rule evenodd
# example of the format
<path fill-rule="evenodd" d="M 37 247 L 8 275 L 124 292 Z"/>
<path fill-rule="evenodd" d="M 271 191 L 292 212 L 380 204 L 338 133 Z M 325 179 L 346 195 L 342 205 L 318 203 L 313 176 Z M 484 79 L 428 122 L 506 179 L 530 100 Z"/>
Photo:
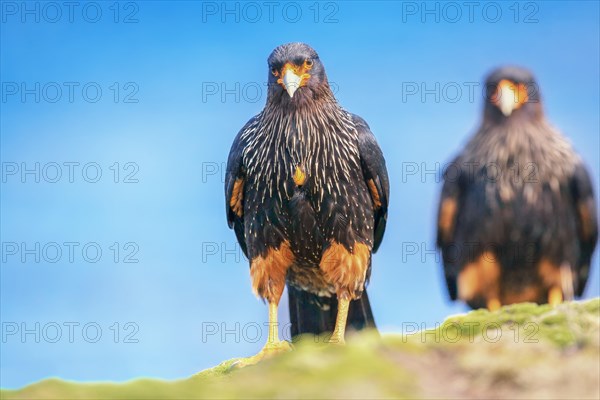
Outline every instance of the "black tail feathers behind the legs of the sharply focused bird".
<path fill-rule="evenodd" d="M 335 296 L 321 297 L 292 286 L 288 286 L 288 296 L 292 337 L 333 332 L 338 307 Z M 346 324 L 348 331 L 359 331 L 365 328 L 376 328 L 366 290 L 360 299 L 350 302 Z"/>

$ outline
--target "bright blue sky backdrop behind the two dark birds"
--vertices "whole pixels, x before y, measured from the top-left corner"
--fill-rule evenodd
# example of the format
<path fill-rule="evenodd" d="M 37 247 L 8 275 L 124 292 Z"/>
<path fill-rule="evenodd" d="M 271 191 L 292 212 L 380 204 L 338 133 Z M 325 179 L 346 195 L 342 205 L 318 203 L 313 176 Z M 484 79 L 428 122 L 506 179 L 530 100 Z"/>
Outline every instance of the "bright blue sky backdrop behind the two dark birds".
<path fill-rule="evenodd" d="M 319 52 L 387 158 L 368 289 L 384 331 L 465 310 L 433 251 L 428 171 L 476 128 L 492 68 L 534 71 L 598 190 L 597 2 L 56 4 L 1 9 L 2 387 L 184 377 L 262 346 L 267 310 L 227 228 L 222 170 L 282 43 Z M 595 256 L 585 297 L 599 279 Z"/>

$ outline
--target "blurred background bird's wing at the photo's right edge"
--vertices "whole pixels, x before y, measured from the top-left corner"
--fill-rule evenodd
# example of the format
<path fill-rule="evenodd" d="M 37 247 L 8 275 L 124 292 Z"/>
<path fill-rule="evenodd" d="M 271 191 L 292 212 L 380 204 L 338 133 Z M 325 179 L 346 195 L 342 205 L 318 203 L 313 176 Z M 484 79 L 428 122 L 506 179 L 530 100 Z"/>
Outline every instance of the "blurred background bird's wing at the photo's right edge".
<path fill-rule="evenodd" d="M 596 202 L 590 176 L 582 163 L 575 168 L 571 177 L 571 193 L 577 218 L 577 239 L 580 256 L 575 266 L 575 294 L 581 296 L 590 272 L 592 254 L 598 241 Z"/>

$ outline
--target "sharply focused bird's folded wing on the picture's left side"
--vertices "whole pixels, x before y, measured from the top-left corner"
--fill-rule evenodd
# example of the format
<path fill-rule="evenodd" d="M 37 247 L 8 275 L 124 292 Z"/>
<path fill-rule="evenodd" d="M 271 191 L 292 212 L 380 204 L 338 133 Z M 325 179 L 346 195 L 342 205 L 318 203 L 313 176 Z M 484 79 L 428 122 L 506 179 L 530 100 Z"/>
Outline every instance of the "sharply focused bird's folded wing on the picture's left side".
<path fill-rule="evenodd" d="M 243 151 L 245 142 L 242 138 L 248 129 L 252 129 L 257 117 L 252 118 L 235 137 L 225 172 L 225 209 L 227 224 L 235 231 L 242 251 L 248 257 L 246 239 L 244 237 L 244 185 L 246 182 Z"/>

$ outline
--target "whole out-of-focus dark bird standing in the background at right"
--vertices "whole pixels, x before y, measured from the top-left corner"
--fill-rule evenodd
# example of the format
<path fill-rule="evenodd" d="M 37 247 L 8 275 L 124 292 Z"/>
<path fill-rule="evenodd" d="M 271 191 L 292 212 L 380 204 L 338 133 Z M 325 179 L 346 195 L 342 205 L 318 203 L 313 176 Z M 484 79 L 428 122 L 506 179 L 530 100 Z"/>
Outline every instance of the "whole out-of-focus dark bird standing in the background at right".
<path fill-rule="evenodd" d="M 437 245 L 450 297 L 495 310 L 583 293 L 598 239 L 588 172 L 522 68 L 486 81 L 483 122 L 444 174 Z"/>

